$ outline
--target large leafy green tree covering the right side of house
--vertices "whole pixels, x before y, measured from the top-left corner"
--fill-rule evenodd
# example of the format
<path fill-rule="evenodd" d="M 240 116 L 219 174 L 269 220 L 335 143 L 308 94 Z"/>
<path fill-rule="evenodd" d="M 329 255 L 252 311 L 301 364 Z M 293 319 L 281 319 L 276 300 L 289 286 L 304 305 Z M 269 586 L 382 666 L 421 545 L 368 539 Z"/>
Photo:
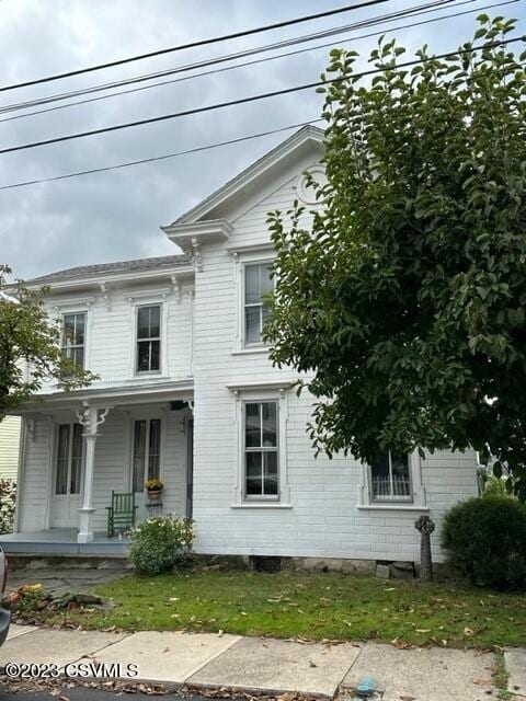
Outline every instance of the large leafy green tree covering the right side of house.
<path fill-rule="evenodd" d="M 513 20 L 478 21 L 408 68 L 380 39 L 371 80 L 331 51 L 328 183 L 310 217 L 270 215 L 266 335 L 307 374 L 318 450 L 489 449 L 525 498 L 526 53 Z"/>

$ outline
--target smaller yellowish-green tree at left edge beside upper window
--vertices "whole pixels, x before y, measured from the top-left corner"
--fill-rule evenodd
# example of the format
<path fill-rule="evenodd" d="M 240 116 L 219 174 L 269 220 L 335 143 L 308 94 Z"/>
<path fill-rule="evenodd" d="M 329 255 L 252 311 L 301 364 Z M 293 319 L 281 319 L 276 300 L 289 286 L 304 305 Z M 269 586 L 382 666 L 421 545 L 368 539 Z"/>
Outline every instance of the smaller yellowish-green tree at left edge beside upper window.
<path fill-rule="evenodd" d="M 8 285 L 0 266 L 0 421 L 55 380 L 64 390 L 85 387 L 95 376 L 75 365 L 60 349 L 60 324 L 45 309 L 46 288 Z"/>

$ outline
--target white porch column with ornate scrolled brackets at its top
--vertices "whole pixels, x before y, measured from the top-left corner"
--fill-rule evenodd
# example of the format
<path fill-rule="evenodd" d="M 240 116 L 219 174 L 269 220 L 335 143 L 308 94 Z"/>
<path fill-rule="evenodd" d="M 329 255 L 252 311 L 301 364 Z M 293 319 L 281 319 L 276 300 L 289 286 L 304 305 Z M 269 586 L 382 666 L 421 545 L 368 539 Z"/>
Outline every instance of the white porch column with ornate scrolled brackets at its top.
<path fill-rule="evenodd" d="M 104 423 L 111 406 L 100 410 L 84 403 L 84 407 L 77 412 L 79 423 L 84 427 L 82 434 L 85 439 L 85 467 L 84 485 L 82 492 L 82 506 L 79 508 L 79 532 L 77 542 L 89 543 L 93 540 L 92 516 L 93 508 L 93 474 L 95 468 L 95 441 L 98 427 Z"/>

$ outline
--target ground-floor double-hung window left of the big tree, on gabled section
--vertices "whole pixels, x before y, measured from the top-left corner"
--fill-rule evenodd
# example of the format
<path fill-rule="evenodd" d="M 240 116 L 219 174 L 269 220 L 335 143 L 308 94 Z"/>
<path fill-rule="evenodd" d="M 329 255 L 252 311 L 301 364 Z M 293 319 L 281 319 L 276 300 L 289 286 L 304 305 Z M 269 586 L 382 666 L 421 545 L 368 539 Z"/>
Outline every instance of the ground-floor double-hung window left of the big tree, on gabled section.
<path fill-rule="evenodd" d="M 278 484 L 277 402 L 244 404 L 244 496 L 277 499 Z"/>

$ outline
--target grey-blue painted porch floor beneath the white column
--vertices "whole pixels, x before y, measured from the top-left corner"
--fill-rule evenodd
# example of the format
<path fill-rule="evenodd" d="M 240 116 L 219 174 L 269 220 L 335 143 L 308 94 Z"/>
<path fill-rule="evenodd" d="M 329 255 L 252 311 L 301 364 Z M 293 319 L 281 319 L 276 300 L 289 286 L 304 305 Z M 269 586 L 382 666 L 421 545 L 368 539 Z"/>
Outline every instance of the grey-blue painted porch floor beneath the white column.
<path fill-rule="evenodd" d="M 7 553 L 31 555 L 127 555 L 127 538 L 107 538 L 105 533 L 94 533 L 90 543 L 78 543 L 77 532 L 76 528 L 49 528 L 33 532 L 5 533 L 0 536 L 0 544 Z"/>

